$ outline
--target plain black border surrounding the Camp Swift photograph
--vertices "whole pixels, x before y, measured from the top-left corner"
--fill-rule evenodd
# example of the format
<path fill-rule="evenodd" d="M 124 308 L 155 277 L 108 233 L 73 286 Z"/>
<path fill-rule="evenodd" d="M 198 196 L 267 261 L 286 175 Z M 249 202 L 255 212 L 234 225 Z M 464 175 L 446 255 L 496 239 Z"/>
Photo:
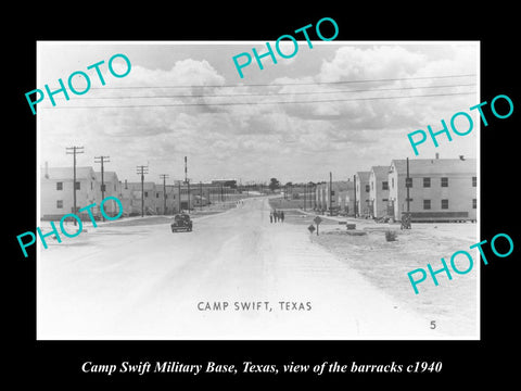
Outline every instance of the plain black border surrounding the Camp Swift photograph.
<path fill-rule="evenodd" d="M 513 4 L 513 3 L 512 3 Z M 120 3 L 109 8 L 101 3 L 77 7 L 27 5 L 5 14 L 11 24 L 2 26 L 9 55 L 4 56 L 3 76 L 8 81 L 4 94 L 4 169 L 5 216 L 3 243 L 8 248 L 8 269 L 3 275 L 9 290 L 4 292 L 4 358 L 2 370 L 18 387 L 36 381 L 39 387 L 75 387 L 88 383 L 112 386 L 161 382 L 174 387 L 181 382 L 259 381 L 331 382 L 351 388 L 379 381 L 412 387 L 469 386 L 492 379 L 507 384 L 518 370 L 517 340 L 519 278 L 519 211 L 521 204 L 516 186 L 519 178 L 516 159 L 517 133 L 521 130 L 519 83 L 518 12 L 500 2 L 486 8 L 455 9 L 452 4 L 417 3 L 414 8 L 378 3 L 353 7 L 351 3 L 320 8 L 318 3 L 289 7 L 265 2 L 214 4 L 193 9 L 175 3 Z M 8 17 L 9 16 L 9 17 Z M 25 92 L 36 85 L 37 40 L 276 40 L 283 34 L 321 17 L 332 17 L 340 29 L 335 40 L 480 40 L 481 101 L 491 102 L 497 94 L 507 94 L 514 104 L 507 119 L 492 116 L 481 131 L 481 237 L 491 240 L 496 234 L 508 234 L 514 243 L 513 253 L 497 258 L 485 250 L 490 264 L 481 264 L 481 341 L 36 341 L 36 260 L 33 247 L 24 258 L 16 235 L 36 228 L 36 121 L 28 109 Z M 326 33 L 325 33 L 326 35 Z M 327 36 L 327 35 L 326 35 Z M 5 110 L 7 109 L 7 110 Z M 5 159 L 8 157 L 8 159 Z M 7 231 L 7 232 L 5 232 Z M 443 287 L 442 287 L 443 288 Z M 327 319 L 325 319 L 327 321 Z M 309 374 L 274 375 L 113 375 L 82 374 L 86 361 L 119 364 L 123 361 L 178 361 L 188 364 L 414 364 L 417 361 L 443 362 L 440 374 Z"/>

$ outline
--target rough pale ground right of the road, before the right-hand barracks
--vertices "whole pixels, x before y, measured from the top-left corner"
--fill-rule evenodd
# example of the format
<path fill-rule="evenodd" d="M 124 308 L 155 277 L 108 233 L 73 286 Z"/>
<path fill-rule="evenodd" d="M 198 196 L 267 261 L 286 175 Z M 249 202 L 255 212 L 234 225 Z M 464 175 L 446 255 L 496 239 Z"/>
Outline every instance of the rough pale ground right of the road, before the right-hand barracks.
<path fill-rule="evenodd" d="M 315 215 L 298 210 L 284 211 L 284 224 L 309 225 Z M 401 230 L 399 225 L 376 224 L 372 220 L 320 216 L 320 235 L 309 235 L 318 243 L 359 272 L 373 286 L 395 298 L 406 308 L 434 320 L 435 327 L 455 338 L 479 336 L 479 286 L 478 253 L 469 250 L 476 240 L 476 225 L 462 224 L 414 224 L 410 230 Z M 339 220 L 355 223 L 357 230 L 367 235 L 350 236 Z M 385 240 L 385 231 L 396 232 L 395 241 Z M 450 255 L 458 250 L 472 254 L 474 266 L 466 275 L 437 274 L 436 287 L 429 275 L 427 264 L 434 270 L 442 267 L 441 257 L 449 264 Z M 457 258 L 460 260 L 460 258 Z M 461 269 L 467 264 L 461 260 Z M 415 294 L 407 273 L 423 268 L 428 278 L 419 283 Z"/>

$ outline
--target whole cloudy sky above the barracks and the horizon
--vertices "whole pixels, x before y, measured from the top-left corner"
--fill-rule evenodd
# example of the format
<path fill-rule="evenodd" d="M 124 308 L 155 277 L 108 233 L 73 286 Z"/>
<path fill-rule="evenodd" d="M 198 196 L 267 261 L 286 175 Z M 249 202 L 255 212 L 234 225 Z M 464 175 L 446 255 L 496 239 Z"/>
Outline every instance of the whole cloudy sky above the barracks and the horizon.
<path fill-rule="evenodd" d="M 303 41 L 292 59 L 265 58 L 263 71 L 253 60 L 240 78 L 232 56 L 252 48 L 266 51 L 264 42 L 39 42 L 35 88 L 66 84 L 75 71 L 91 79 L 82 96 L 56 94 L 55 108 L 47 98 L 38 104 L 40 165 L 69 166 L 65 148 L 82 146 L 78 165 L 98 171 L 93 157 L 110 155 L 105 169 L 120 180 L 138 181 L 142 164 L 147 180 L 183 178 L 183 156 L 193 181 L 318 181 L 330 171 L 346 179 L 415 157 L 408 133 L 441 129 L 442 118 L 448 124 L 480 102 L 479 77 L 459 76 L 479 75 L 475 42 L 331 41 L 310 49 Z M 126 77 L 107 71 L 116 53 L 131 62 Z M 105 86 L 87 71 L 102 60 Z M 114 68 L 125 70 L 124 61 Z M 78 90 L 82 83 L 74 78 Z M 420 146 L 418 157 L 476 157 L 476 128 L 452 142 L 441 136 L 439 148 Z"/>

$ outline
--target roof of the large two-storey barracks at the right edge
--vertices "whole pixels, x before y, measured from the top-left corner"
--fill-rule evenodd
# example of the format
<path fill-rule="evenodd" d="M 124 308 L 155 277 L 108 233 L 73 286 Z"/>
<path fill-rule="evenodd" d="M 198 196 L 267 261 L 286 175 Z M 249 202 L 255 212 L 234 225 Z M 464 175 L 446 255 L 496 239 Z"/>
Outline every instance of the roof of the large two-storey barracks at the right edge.
<path fill-rule="evenodd" d="M 405 159 L 393 160 L 391 165 L 396 167 L 398 174 L 407 173 Z M 475 174 L 475 159 L 409 159 L 409 175 L 419 174 Z"/>

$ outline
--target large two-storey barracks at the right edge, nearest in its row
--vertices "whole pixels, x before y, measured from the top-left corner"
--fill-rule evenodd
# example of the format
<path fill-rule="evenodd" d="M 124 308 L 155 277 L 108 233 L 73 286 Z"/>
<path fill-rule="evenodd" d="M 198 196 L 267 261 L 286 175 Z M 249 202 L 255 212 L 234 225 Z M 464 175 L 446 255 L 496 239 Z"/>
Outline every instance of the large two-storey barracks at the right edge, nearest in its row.
<path fill-rule="evenodd" d="M 407 211 L 406 160 L 390 166 L 390 209 L 396 219 Z M 409 160 L 409 209 L 412 220 L 475 220 L 475 159 Z"/>

